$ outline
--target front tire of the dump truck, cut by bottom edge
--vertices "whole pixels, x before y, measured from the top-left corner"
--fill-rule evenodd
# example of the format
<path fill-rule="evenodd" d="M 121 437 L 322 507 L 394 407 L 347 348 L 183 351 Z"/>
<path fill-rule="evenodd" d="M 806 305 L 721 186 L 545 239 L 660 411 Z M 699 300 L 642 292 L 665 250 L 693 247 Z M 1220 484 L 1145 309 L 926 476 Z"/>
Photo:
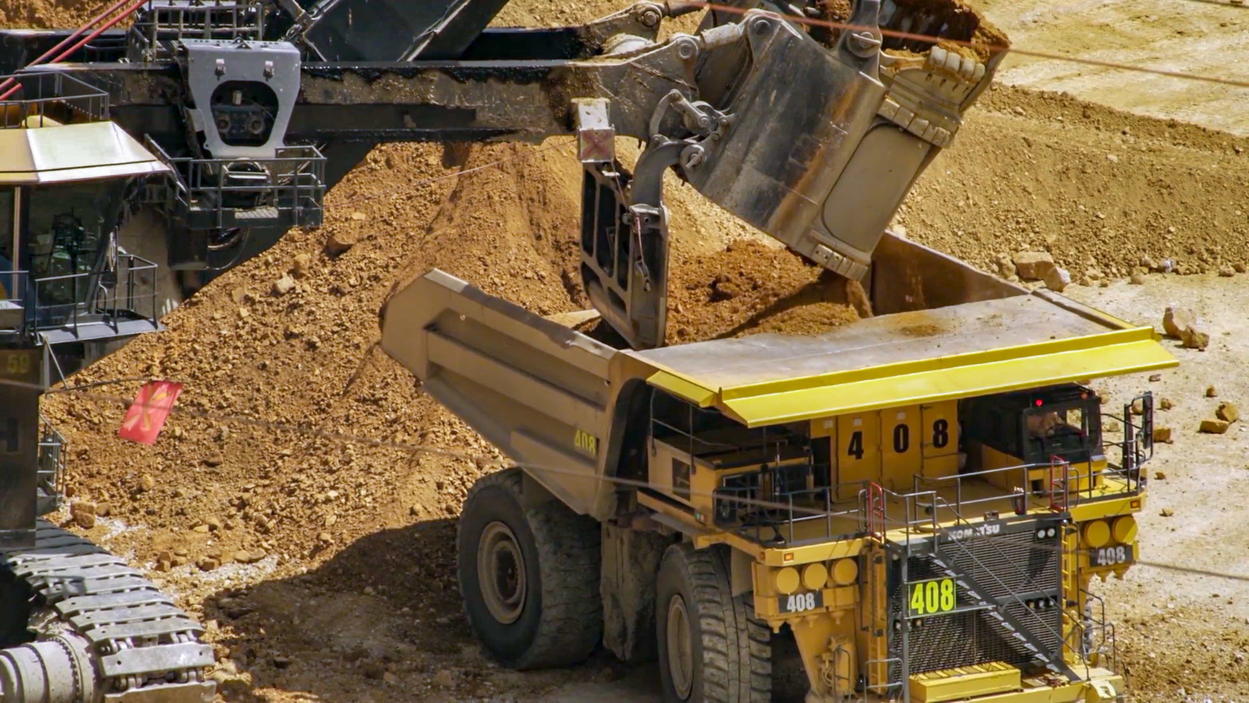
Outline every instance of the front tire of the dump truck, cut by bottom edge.
<path fill-rule="evenodd" d="M 654 612 L 659 679 L 668 703 L 772 699 L 771 631 L 729 586 L 729 551 L 668 547 Z"/>

